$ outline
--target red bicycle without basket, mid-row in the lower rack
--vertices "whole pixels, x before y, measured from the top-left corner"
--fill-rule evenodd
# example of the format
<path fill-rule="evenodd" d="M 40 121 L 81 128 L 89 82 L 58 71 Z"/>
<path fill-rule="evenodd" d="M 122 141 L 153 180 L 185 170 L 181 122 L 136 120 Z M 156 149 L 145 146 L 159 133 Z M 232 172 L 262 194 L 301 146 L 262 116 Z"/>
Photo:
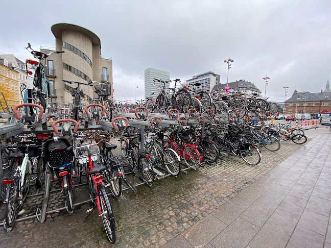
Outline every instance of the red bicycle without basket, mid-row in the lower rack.
<path fill-rule="evenodd" d="M 187 123 L 185 117 L 181 116 L 177 118 L 179 127 L 174 127 L 170 131 L 171 135 L 168 141 L 168 147 L 171 147 L 183 158 L 185 165 L 191 169 L 197 169 L 201 164 L 201 155 L 197 150 L 198 146 L 196 144 L 186 143 L 188 136 L 185 135 L 184 129 L 181 127 L 181 119 L 184 120 L 184 124 Z M 181 147 L 179 143 L 181 143 Z"/>

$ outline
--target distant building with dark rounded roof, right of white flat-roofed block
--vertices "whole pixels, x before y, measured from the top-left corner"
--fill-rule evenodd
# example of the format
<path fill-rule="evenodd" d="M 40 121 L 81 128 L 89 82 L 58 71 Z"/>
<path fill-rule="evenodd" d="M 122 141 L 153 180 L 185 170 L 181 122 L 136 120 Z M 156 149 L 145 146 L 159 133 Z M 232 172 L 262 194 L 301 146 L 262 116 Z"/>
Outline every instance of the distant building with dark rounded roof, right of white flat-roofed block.
<path fill-rule="evenodd" d="M 240 91 L 242 93 L 245 93 L 247 96 L 262 96 L 261 90 L 259 90 L 254 83 L 245 81 L 244 79 L 241 79 L 239 81 L 230 82 L 228 83 L 228 86 L 230 87 L 230 90 L 233 89 L 234 91 Z M 226 84 L 219 84 L 215 85 L 214 88 L 212 88 L 212 91 L 219 90 L 221 88 L 225 89 Z"/>

